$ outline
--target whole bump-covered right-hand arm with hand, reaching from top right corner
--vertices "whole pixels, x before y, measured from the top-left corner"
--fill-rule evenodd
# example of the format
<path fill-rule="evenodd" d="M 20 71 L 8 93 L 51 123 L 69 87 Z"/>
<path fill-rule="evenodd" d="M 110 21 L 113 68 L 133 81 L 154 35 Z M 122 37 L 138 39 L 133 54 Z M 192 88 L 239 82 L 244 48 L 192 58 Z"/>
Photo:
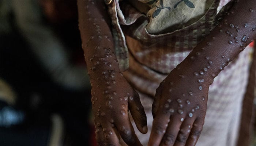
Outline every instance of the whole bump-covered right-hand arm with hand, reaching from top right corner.
<path fill-rule="evenodd" d="M 256 1 L 235 2 L 223 22 L 170 72 L 158 87 L 153 103 L 150 146 L 196 144 L 204 123 L 209 86 L 256 38 L 255 29 Z"/>

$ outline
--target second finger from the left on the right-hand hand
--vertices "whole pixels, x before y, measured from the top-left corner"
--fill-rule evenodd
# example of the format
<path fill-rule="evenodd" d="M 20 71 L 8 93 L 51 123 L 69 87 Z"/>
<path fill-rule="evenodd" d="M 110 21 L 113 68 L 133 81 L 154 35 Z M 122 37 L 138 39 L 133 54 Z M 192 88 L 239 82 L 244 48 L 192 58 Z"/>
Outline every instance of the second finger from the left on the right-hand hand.
<path fill-rule="evenodd" d="M 181 116 L 171 116 L 166 133 L 161 139 L 161 146 L 173 146 L 182 124 Z"/>

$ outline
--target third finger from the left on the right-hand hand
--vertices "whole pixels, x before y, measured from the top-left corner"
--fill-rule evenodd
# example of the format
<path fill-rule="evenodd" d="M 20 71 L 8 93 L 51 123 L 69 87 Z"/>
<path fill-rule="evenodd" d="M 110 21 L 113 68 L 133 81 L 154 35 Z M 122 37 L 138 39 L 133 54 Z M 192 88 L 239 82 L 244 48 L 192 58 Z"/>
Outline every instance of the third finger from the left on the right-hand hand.
<path fill-rule="evenodd" d="M 191 131 L 192 123 L 194 123 L 194 121 L 195 119 L 192 118 L 186 118 L 184 120 L 180 126 L 180 131 L 178 132 L 174 146 L 185 146 Z"/>

